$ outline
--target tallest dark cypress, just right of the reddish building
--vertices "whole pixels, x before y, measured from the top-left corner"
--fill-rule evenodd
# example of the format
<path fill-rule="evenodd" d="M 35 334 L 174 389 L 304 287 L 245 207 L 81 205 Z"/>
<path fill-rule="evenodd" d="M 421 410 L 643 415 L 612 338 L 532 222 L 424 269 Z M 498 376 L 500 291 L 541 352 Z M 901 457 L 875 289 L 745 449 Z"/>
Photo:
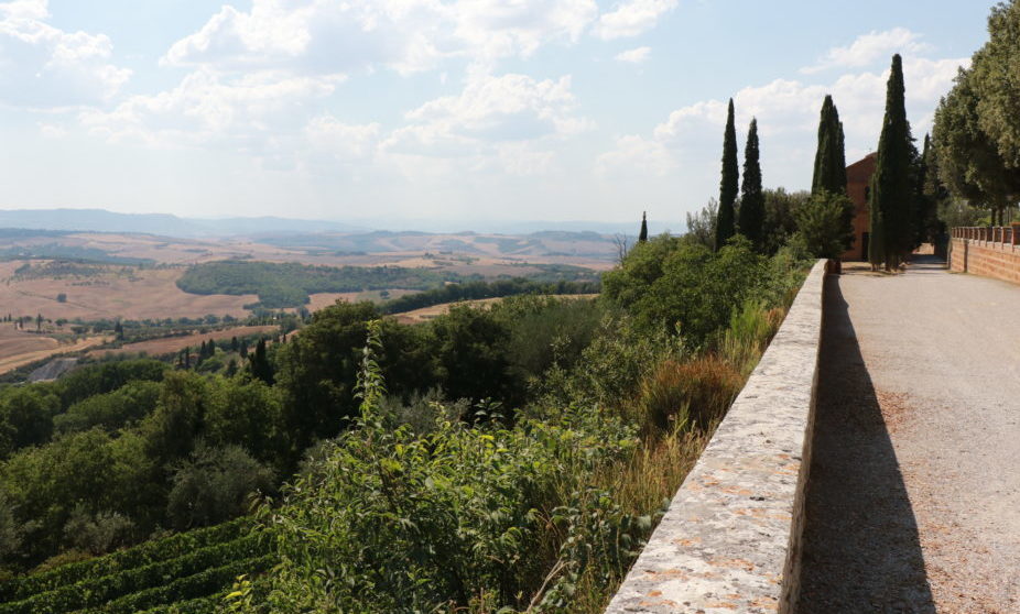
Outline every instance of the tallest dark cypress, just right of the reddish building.
<path fill-rule="evenodd" d="M 872 243 L 876 239 L 881 241 L 882 261 L 888 270 L 897 268 L 913 248 L 911 164 L 915 152 L 904 106 L 903 61 L 900 54 L 896 54 L 886 86 L 886 118 L 878 140 L 870 202 L 875 209 L 872 220 L 876 212 L 880 217 L 877 228 L 872 221 L 871 240 Z M 881 237 L 878 237 L 879 232 Z M 870 257 L 870 248 L 868 251 L 868 260 L 876 265 L 876 260 Z"/>

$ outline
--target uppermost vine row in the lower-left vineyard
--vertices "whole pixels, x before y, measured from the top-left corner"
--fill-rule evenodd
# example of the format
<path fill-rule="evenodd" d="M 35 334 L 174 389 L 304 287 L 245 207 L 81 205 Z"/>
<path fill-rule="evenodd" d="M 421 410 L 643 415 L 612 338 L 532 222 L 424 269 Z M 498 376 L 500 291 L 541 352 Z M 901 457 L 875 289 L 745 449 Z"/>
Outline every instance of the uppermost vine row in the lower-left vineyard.
<path fill-rule="evenodd" d="M 178 533 L 133 548 L 97 557 L 87 561 L 65 564 L 56 569 L 14 578 L 0 583 L 0 601 L 20 601 L 36 593 L 74 584 L 87 578 L 101 578 L 126 569 L 143 567 L 158 561 L 175 559 L 214 544 L 232 541 L 250 531 L 251 518 L 237 518 L 213 527 Z"/>

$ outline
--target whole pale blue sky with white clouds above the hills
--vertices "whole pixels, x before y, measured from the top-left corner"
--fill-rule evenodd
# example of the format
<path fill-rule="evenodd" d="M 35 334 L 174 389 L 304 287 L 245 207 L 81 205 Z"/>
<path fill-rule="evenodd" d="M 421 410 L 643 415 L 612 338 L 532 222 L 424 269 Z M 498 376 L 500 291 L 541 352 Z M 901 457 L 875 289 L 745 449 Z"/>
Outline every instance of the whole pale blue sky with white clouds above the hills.
<path fill-rule="evenodd" d="M 672 223 L 718 196 L 726 101 L 766 187 L 810 186 L 832 94 L 914 136 L 990 0 L 15 0 L 0 208 L 369 221 Z"/>

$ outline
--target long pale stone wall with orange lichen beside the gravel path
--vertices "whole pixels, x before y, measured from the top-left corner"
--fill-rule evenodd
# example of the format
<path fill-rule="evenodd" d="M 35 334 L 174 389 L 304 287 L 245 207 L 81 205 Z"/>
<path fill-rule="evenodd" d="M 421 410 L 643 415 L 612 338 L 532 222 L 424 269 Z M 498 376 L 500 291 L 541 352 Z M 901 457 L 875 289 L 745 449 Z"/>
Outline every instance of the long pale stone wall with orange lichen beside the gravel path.
<path fill-rule="evenodd" d="M 825 261 L 606 612 L 789 612 L 795 606 Z"/>

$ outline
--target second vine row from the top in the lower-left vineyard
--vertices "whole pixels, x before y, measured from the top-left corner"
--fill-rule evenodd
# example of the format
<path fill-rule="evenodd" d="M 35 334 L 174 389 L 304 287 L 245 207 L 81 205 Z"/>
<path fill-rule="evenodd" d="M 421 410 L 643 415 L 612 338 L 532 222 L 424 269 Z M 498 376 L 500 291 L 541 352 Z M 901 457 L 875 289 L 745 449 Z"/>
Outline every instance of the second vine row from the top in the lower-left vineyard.
<path fill-rule="evenodd" d="M 119 571 L 102 578 L 87 578 L 70 585 L 37 593 L 24 601 L 2 604 L 0 614 L 62 614 L 101 605 L 126 594 L 166 584 L 172 579 L 187 578 L 230 561 L 264 555 L 267 546 L 262 535 L 252 534 L 234 541 L 200 548 L 175 559 Z"/>

